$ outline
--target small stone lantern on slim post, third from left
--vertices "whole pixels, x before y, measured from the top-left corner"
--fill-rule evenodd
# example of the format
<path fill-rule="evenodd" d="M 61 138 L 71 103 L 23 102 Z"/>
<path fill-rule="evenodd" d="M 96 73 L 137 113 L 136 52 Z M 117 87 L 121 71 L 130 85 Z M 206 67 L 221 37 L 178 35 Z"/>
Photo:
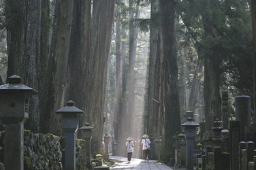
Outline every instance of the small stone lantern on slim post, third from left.
<path fill-rule="evenodd" d="M 91 165 L 91 138 L 93 130 L 95 128 L 90 126 L 89 123 L 86 123 L 85 126 L 82 126 L 79 131 L 82 131 L 82 139 L 85 140 L 85 152 L 87 156 L 87 165 Z"/>

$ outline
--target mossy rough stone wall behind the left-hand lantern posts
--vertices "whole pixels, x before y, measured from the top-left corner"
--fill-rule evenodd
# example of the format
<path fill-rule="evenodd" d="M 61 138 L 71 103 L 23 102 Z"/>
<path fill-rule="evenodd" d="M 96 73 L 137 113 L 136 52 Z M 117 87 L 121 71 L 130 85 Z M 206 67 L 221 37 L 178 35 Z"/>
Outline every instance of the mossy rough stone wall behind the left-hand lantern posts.
<path fill-rule="evenodd" d="M 4 131 L 0 132 L 0 163 L 3 163 Z M 87 169 L 85 141 L 76 139 L 76 169 Z M 63 169 L 65 137 L 24 131 L 24 169 Z M 0 169 L 3 166 L 0 166 Z"/>

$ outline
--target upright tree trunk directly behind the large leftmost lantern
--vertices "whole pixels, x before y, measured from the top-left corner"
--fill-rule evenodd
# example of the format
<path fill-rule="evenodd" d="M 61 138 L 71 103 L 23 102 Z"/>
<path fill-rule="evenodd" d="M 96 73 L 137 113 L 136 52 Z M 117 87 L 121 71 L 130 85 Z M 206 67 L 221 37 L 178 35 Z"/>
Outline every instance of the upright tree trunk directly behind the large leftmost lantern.
<path fill-rule="evenodd" d="M 39 89 L 39 56 L 40 56 L 40 26 L 41 26 L 41 0 L 25 1 L 22 36 L 22 58 L 20 77 L 24 84 Z M 33 95 L 29 98 L 29 120 L 25 129 L 34 133 L 39 132 L 39 97 Z"/>

